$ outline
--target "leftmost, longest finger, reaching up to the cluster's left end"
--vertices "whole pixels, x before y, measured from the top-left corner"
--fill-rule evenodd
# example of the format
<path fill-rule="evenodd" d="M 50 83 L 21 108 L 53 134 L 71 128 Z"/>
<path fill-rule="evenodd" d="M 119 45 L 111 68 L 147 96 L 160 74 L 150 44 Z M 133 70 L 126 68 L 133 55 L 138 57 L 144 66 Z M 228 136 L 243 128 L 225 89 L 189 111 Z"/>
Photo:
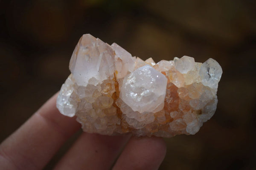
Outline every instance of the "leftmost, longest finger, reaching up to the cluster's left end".
<path fill-rule="evenodd" d="M 42 169 L 64 141 L 79 129 L 75 118 L 59 113 L 57 95 L 3 141 L 0 145 L 0 169 Z"/>

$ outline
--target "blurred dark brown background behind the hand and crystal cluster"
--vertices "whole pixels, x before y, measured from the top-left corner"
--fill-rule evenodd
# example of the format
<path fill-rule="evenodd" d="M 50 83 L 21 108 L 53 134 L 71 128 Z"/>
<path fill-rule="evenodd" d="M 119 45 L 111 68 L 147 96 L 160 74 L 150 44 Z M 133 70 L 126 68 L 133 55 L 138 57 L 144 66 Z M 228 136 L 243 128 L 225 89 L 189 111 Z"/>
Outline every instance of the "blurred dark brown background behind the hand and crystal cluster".
<path fill-rule="evenodd" d="M 60 89 L 85 33 L 142 59 L 222 66 L 215 115 L 196 135 L 166 138 L 160 170 L 256 168 L 255 0 L 0 0 L 0 141 Z"/>

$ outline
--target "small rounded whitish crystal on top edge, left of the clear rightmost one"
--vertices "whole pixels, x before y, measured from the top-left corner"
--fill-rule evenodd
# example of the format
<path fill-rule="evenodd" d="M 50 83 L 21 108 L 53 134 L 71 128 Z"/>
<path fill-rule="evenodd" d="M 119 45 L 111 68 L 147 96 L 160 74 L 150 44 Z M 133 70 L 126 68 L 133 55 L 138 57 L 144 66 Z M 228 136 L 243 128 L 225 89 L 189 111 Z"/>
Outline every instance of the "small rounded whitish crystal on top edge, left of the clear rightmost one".
<path fill-rule="evenodd" d="M 190 70 L 194 69 L 194 67 L 195 59 L 186 55 L 180 59 L 176 59 L 175 61 L 175 69 L 177 69 L 182 74 L 186 74 Z"/>

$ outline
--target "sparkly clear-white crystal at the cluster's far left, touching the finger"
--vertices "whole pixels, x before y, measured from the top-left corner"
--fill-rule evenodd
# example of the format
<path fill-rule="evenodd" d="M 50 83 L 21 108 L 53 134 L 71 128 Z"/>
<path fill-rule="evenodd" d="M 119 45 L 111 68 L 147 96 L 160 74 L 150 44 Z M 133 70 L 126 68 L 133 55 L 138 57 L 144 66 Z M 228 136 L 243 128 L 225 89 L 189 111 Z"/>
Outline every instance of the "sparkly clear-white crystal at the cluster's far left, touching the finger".
<path fill-rule="evenodd" d="M 60 93 L 56 101 L 56 107 L 61 114 L 73 117 L 77 111 L 77 103 L 71 98 L 74 92 L 74 78 L 70 75 L 61 86 Z"/>

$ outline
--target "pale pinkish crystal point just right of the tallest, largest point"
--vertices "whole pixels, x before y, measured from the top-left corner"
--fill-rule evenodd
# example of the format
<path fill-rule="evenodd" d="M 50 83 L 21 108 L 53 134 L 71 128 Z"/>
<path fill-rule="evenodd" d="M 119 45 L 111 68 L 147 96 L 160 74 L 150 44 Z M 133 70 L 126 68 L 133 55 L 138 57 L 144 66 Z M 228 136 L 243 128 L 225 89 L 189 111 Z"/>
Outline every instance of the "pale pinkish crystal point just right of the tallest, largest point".
<path fill-rule="evenodd" d="M 115 51 L 116 78 L 123 78 L 129 72 L 134 71 L 136 58 L 131 57 L 131 54 L 125 49 L 113 43 L 111 48 Z"/>

